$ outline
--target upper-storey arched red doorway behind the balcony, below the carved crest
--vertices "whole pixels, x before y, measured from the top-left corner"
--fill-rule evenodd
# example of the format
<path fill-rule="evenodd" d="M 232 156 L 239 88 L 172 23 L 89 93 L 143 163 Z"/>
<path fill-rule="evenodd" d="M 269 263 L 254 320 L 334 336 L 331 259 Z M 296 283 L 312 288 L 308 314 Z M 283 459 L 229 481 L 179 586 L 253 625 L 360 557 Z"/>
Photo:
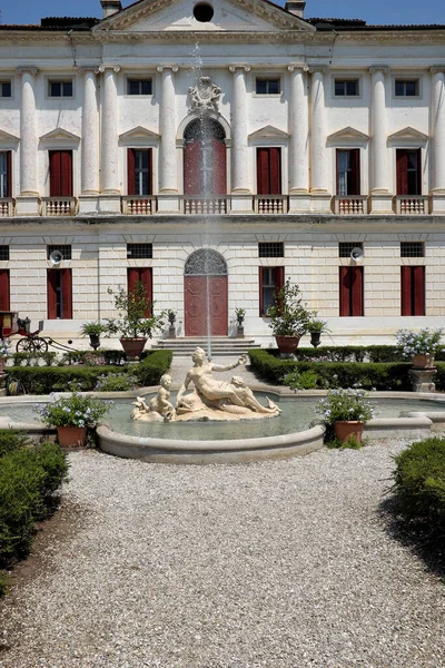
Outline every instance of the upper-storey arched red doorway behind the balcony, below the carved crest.
<path fill-rule="evenodd" d="M 184 132 L 184 194 L 227 194 L 226 132 L 214 118 L 196 118 Z"/>

